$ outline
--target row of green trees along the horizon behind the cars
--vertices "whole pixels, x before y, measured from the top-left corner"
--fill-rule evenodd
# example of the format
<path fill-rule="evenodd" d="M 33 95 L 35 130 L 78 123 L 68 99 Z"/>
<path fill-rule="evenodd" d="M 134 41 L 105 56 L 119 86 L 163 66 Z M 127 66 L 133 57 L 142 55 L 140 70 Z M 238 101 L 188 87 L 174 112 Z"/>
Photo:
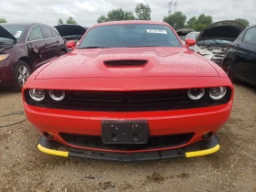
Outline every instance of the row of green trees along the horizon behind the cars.
<path fill-rule="evenodd" d="M 97 22 L 107 21 L 122 21 L 122 20 L 151 20 L 151 8 L 149 5 L 143 3 L 137 4 L 134 8 L 135 16 L 133 11 L 123 11 L 123 8 L 113 9 L 107 13 L 106 16 L 99 16 Z M 170 16 L 165 16 L 164 22 L 174 27 L 176 30 L 179 28 L 193 28 L 195 31 L 201 31 L 204 27 L 207 27 L 212 23 L 212 16 L 206 16 L 201 14 L 199 16 L 193 16 L 187 20 L 187 16 L 182 12 L 178 11 Z M 235 21 L 241 23 L 244 27 L 249 27 L 250 23 L 248 20 L 243 18 L 236 18 Z M 0 18 L 0 23 L 7 23 L 5 18 Z M 59 18 L 58 25 L 64 24 L 63 20 Z M 77 24 L 72 16 L 66 21 L 66 24 Z"/>

